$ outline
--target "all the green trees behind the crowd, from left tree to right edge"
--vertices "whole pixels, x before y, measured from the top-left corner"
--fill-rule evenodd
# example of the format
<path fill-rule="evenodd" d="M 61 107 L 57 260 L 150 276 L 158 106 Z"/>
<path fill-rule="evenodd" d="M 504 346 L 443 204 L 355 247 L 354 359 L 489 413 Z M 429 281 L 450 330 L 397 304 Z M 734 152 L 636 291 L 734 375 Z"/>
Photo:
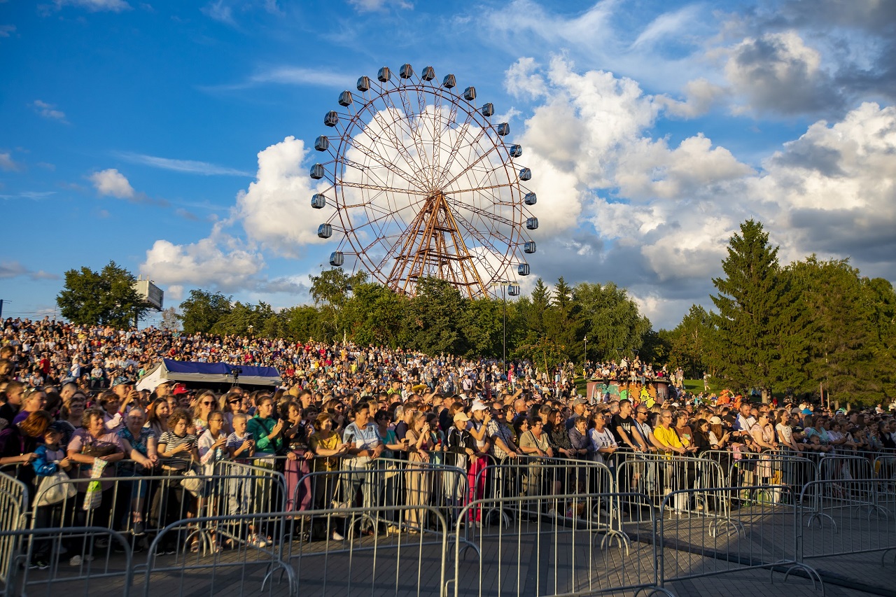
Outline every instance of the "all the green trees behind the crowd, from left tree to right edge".
<path fill-rule="evenodd" d="M 210 290 L 191 290 L 177 322 L 184 333 L 244 335 L 418 350 L 430 355 L 530 359 L 539 368 L 629 359 L 681 367 L 737 390 L 889 402 L 896 396 L 896 293 L 849 260 L 810 255 L 781 265 L 757 221 L 729 239 L 714 308 L 694 305 L 672 330 L 654 330 L 627 291 L 613 282 L 549 288 L 528 296 L 468 299 L 445 281 L 425 279 L 407 297 L 341 269 L 311 276 L 313 304 L 275 310 Z M 65 273 L 57 302 L 76 324 L 127 325 L 146 306 L 127 273 L 110 262 L 99 273 Z M 100 290 L 98 290 L 100 289 Z M 174 325 L 174 313 L 164 321 Z M 587 342 L 586 342 L 587 338 Z M 586 353 L 587 349 L 587 353 Z"/>

